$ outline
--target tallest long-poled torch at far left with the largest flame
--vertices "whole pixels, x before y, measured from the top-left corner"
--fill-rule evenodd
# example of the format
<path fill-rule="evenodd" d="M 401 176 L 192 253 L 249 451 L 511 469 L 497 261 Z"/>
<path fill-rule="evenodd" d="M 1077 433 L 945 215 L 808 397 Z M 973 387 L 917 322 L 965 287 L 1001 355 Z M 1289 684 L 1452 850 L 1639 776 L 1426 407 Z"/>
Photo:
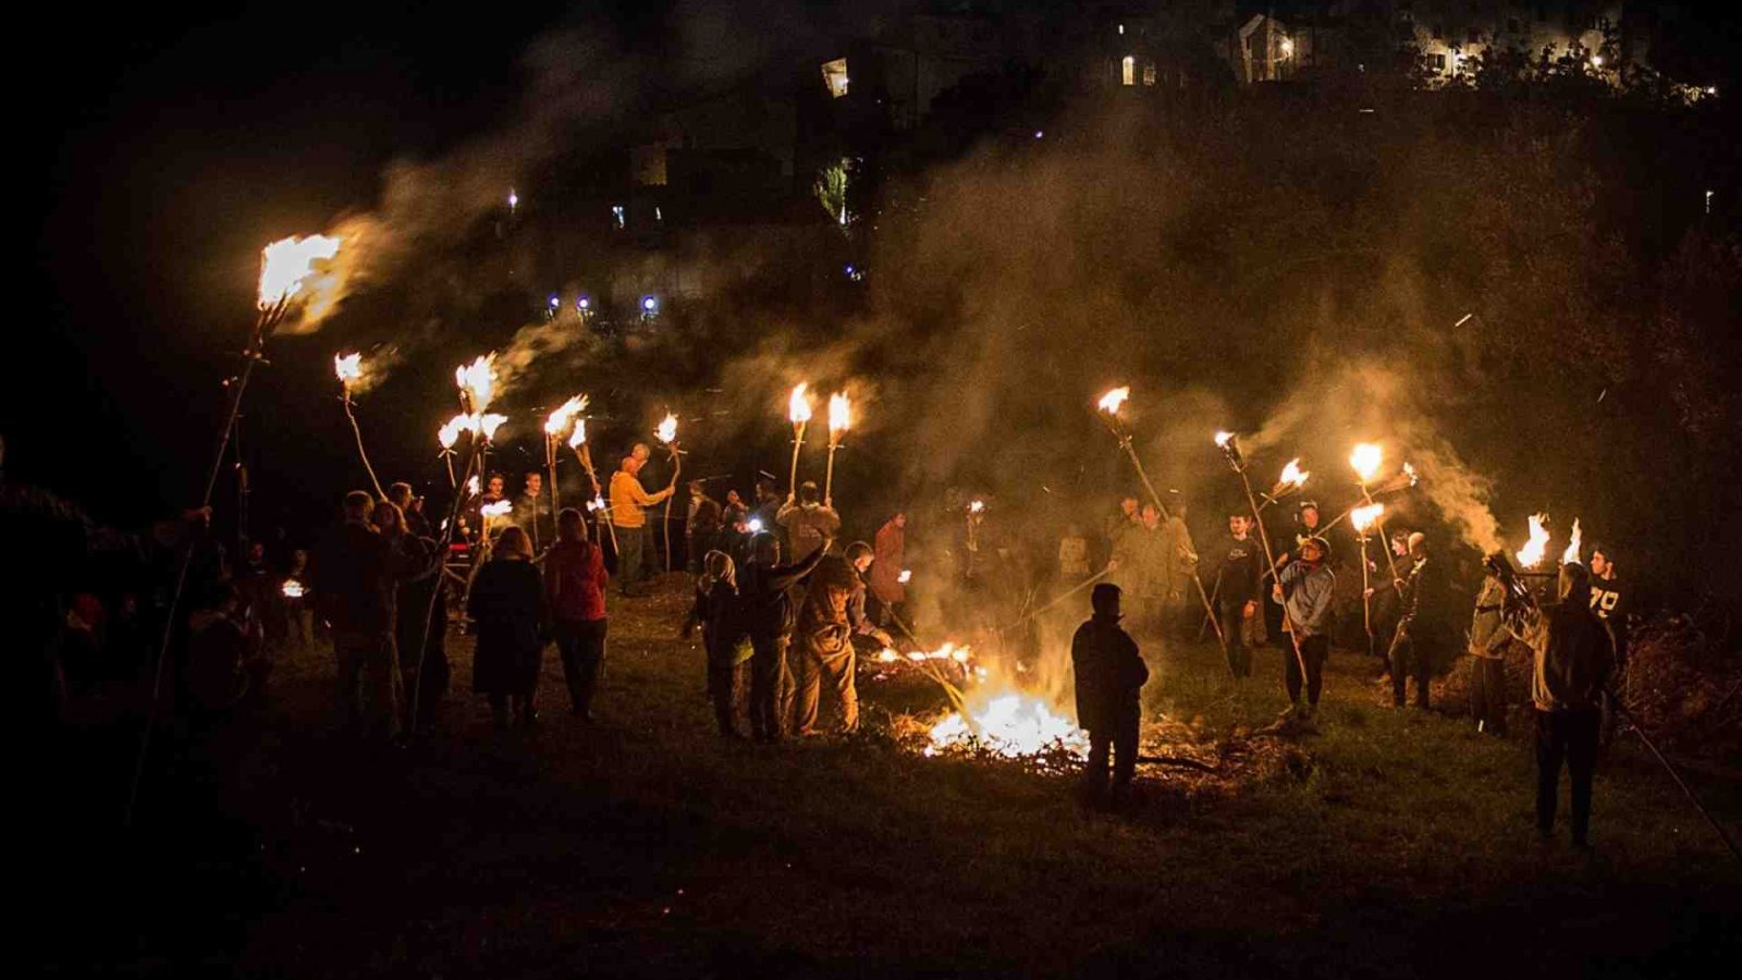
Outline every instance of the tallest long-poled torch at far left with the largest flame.
<path fill-rule="evenodd" d="M 247 382 L 254 375 L 254 364 L 265 361 L 267 340 L 284 324 L 286 314 L 291 310 L 293 300 L 303 293 L 303 282 L 314 277 L 315 263 L 327 262 L 338 255 L 341 239 L 329 235 L 310 235 L 307 239 L 291 235 L 287 239 L 275 241 L 261 249 L 260 253 L 260 291 L 256 295 L 256 316 L 254 330 L 247 338 L 247 345 L 242 349 L 242 370 L 225 378 L 225 389 L 228 389 L 230 401 L 225 408 L 225 422 L 218 431 L 218 446 L 213 453 L 213 466 L 206 474 L 206 493 L 200 497 L 200 509 L 209 511 L 213 502 L 213 490 L 218 487 L 218 473 L 223 469 L 225 450 L 230 446 L 230 436 L 235 432 L 237 415 L 242 412 L 242 392 L 247 391 Z M 145 778 L 145 760 L 152 748 L 152 731 L 157 727 L 157 706 L 162 701 L 164 692 L 164 663 L 169 659 L 169 640 L 176 626 L 176 610 L 181 605 L 181 593 L 188 584 L 188 567 L 193 561 L 193 549 L 188 548 L 181 553 L 181 561 L 176 568 L 176 586 L 169 593 L 169 607 L 164 612 L 164 636 L 157 650 L 157 664 L 152 670 L 152 706 L 146 713 L 145 732 L 139 736 L 139 755 L 134 760 L 132 783 L 127 788 L 127 809 L 122 814 L 122 823 L 132 827 L 132 809 L 139 800 L 139 783 Z"/>

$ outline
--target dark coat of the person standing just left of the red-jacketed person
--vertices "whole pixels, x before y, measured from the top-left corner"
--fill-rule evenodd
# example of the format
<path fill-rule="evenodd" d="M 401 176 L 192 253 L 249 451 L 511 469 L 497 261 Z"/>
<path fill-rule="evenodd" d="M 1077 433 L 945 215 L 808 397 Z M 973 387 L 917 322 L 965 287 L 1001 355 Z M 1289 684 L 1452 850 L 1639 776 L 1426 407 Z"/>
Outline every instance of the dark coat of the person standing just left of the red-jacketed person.
<path fill-rule="evenodd" d="M 477 623 L 472 691 L 530 694 L 538 685 L 538 661 L 549 621 L 538 567 L 519 558 L 495 558 L 477 570 L 467 616 Z"/>

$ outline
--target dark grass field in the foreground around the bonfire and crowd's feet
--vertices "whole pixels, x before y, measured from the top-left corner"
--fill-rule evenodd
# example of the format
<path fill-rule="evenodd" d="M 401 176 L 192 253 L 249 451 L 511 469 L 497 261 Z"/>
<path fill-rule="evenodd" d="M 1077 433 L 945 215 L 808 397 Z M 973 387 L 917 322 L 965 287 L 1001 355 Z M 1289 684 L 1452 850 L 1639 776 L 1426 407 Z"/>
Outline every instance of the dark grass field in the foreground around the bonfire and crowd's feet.
<path fill-rule="evenodd" d="M 213 790 L 225 816 L 174 818 L 181 842 L 99 905 L 127 928 L 91 956 L 178 975 L 1395 978 L 1676 977 L 1742 950 L 1742 865 L 1643 753 L 1599 774 L 1596 854 L 1564 828 L 1542 844 L 1528 745 L 1383 706 L 1355 654 L 1333 656 L 1301 741 L 1244 736 L 1284 706 L 1275 652 L 1240 692 L 1214 647 L 1157 657 L 1146 717 L 1228 776 L 1143 767 L 1113 816 L 1068 776 L 904 748 L 888 718 L 942 704 L 911 682 L 864 684 L 874 731 L 854 739 L 718 739 L 681 596 L 613 602 L 591 727 L 552 656 L 542 727 L 493 732 L 456 642 L 444 727 L 361 753 L 329 731 L 329 663 L 280 664 L 242 781 Z M 1742 783 L 1691 776 L 1742 832 Z"/>

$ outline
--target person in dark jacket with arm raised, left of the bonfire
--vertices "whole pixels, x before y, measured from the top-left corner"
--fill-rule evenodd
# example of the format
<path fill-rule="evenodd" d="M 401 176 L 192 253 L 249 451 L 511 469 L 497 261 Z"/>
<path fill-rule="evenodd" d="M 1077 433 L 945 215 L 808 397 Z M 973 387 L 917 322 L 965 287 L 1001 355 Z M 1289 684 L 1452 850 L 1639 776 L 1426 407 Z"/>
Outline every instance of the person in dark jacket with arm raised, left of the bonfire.
<path fill-rule="evenodd" d="M 739 577 L 744 630 L 751 647 L 751 738 L 780 741 L 786 718 L 793 713 L 793 675 L 786 666 L 786 650 L 793 642 L 796 624 L 796 586 L 815 570 L 829 551 L 829 541 L 815 548 L 803 561 L 780 565 L 780 541 L 768 532 L 751 541 L 753 560 Z"/>

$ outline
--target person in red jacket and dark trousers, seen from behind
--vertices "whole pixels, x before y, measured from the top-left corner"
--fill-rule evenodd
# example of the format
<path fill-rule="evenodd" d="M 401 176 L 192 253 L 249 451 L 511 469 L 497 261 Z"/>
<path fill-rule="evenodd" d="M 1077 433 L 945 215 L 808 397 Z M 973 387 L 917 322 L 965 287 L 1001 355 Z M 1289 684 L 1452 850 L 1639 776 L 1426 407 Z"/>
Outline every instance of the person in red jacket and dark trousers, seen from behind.
<path fill-rule="evenodd" d="M 556 544 L 545 555 L 545 598 L 563 657 L 573 711 L 592 720 L 592 696 L 604 664 L 604 555 L 587 541 L 587 521 L 575 507 L 556 516 Z"/>

